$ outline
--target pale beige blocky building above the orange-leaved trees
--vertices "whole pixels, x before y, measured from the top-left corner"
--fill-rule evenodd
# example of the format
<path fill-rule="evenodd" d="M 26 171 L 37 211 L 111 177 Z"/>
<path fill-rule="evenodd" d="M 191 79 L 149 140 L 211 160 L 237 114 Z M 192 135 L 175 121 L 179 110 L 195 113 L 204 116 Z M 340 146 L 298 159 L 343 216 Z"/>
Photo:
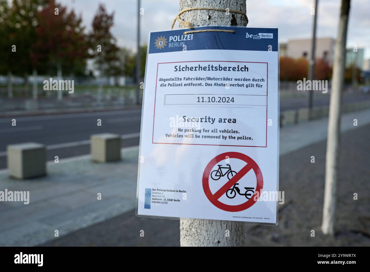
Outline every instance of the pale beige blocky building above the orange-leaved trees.
<path fill-rule="evenodd" d="M 315 58 L 326 60 L 329 65 L 334 60 L 335 40 L 333 38 L 316 38 Z M 311 58 L 311 39 L 289 40 L 286 48 L 286 56 L 291 58 Z"/>

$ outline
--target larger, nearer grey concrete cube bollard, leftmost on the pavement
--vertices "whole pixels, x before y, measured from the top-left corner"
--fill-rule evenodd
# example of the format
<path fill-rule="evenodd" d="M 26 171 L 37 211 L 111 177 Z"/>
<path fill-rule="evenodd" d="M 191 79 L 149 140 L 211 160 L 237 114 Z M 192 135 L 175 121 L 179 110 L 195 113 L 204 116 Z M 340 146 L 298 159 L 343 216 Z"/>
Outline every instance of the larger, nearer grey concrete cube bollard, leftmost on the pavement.
<path fill-rule="evenodd" d="M 46 148 L 43 144 L 26 142 L 7 146 L 10 177 L 25 179 L 46 175 Z"/>

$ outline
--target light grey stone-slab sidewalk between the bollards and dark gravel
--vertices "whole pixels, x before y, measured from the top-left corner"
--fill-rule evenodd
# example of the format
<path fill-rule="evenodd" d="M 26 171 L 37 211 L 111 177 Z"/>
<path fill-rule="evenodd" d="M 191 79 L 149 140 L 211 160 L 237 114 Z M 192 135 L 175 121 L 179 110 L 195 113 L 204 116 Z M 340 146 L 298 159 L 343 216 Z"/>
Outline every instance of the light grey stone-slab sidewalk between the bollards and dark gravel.
<path fill-rule="evenodd" d="M 358 127 L 353 126 L 353 119 Z M 342 131 L 370 123 L 370 110 L 346 114 Z M 280 129 L 280 156 L 322 141 L 327 119 Z M 17 181 L 0 171 L 0 190 L 30 191 L 30 204 L 0 202 L 0 246 L 43 244 L 132 211 L 136 201 L 138 147 L 124 148 L 122 161 L 96 164 L 90 155 L 48 162 L 48 175 Z M 309 161 L 309 158 L 307 158 Z M 320 162 L 318 162 L 320 163 Z M 97 200 L 101 193 L 102 200 Z"/>

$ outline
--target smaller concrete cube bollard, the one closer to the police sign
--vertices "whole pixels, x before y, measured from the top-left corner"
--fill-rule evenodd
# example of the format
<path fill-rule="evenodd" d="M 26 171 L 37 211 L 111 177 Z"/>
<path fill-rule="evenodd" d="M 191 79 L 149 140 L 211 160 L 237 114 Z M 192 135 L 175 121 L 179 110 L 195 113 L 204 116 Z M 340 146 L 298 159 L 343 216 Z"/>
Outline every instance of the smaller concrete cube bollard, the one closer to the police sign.
<path fill-rule="evenodd" d="M 96 162 L 119 161 L 121 159 L 121 136 L 112 133 L 91 135 L 91 158 Z"/>

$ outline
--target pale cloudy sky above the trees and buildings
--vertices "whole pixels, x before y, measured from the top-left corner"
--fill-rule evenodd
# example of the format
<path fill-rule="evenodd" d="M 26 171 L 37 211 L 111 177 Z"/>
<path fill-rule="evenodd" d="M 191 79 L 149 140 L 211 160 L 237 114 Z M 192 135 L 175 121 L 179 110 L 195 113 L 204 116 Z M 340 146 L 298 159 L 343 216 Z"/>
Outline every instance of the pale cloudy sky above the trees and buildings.
<path fill-rule="evenodd" d="M 115 12 L 112 33 L 120 46 L 135 48 L 137 0 L 59 0 L 68 8 L 81 14 L 89 29 L 99 3 L 108 12 Z M 212 1 L 212 0 L 211 0 Z M 340 0 L 319 0 L 317 36 L 337 35 Z M 311 8 L 314 0 L 247 0 L 248 26 L 279 27 L 280 42 L 294 38 L 309 38 L 312 33 Z M 178 0 L 141 0 L 141 41 L 147 43 L 148 33 L 166 30 L 179 11 Z M 352 0 L 347 47 L 365 48 L 365 58 L 370 58 L 370 1 Z M 177 28 L 177 23 L 175 28 Z"/>

